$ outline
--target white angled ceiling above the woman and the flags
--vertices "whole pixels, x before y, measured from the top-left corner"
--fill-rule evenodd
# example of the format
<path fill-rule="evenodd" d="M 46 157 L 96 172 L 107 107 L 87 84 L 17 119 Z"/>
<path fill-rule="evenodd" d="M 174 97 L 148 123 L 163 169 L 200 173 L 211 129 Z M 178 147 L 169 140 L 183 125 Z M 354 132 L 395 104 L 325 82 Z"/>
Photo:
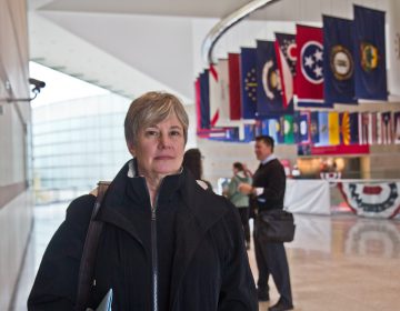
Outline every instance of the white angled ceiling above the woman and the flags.
<path fill-rule="evenodd" d="M 128 98 L 159 89 L 192 103 L 193 81 L 204 66 L 202 40 L 248 2 L 28 0 L 30 57 Z M 351 6 L 348 0 L 281 0 L 249 20 L 320 21 L 321 12 L 349 17 Z"/>

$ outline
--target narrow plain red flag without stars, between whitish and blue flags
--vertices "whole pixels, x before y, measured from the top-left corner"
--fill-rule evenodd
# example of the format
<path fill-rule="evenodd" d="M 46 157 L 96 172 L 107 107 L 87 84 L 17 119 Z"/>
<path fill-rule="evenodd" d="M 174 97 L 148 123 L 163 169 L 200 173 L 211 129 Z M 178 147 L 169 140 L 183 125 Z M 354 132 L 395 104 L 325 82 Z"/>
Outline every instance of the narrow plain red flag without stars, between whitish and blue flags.
<path fill-rule="evenodd" d="M 229 117 L 231 120 L 240 120 L 240 56 L 238 53 L 228 54 L 229 68 Z"/>

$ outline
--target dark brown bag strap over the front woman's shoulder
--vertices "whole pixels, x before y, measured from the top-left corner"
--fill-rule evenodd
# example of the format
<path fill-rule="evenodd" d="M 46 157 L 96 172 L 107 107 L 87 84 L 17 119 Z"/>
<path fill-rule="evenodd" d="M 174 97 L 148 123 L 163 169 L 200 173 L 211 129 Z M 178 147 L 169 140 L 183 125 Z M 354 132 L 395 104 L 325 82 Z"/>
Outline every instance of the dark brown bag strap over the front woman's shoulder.
<path fill-rule="evenodd" d="M 99 181 L 98 183 L 98 194 L 90 218 L 88 233 L 84 240 L 82 258 L 79 267 L 78 292 L 76 303 L 77 311 L 86 310 L 87 303 L 89 302 L 90 290 L 93 282 L 92 278 L 94 259 L 99 244 L 99 238 L 103 228 L 103 222 L 97 221 L 94 220 L 94 218 L 101 207 L 102 200 L 109 185 L 110 182 L 107 181 Z"/>

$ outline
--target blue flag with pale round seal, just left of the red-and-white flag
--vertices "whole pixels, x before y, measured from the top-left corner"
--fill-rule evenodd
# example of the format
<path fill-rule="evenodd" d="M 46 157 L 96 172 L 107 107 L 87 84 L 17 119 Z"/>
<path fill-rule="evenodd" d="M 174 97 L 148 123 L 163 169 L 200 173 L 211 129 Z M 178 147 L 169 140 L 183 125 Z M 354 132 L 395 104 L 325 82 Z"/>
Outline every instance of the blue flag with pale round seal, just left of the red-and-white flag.
<path fill-rule="evenodd" d="M 260 117 L 283 112 L 274 43 L 257 41 L 257 112 Z"/>

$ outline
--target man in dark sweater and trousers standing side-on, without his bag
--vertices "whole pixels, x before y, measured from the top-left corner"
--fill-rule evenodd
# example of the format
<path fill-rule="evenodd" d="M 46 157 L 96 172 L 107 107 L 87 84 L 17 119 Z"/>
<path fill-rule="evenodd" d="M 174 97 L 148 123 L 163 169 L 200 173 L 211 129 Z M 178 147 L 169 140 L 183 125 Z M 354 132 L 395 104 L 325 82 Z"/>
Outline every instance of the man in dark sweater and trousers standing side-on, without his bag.
<path fill-rule="evenodd" d="M 286 190 L 284 169 L 273 154 L 273 139 L 269 136 L 256 138 L 254 152 L 261 162 L 253 174 L 252 185 L 242 183 L 239 190 L 252 194 L 257 201 L 258 214 L 272 209 L 283 209 Z M 264 225 L 264 224 L 259 224 Z M 257 228 L 256 228 L 257 230 Z M 257 234 L 256 234 L 257 235 Z M 257 237 L 256 261 L 259 269 L 258 294 L 259 300 L 269 300 L 268 274 L 271 273 L 273 282 L 280 294 L 279 301 L 270 307 L 269 311 L 292 310 L 293 302 L 290 287 L 289 265 L 282 242 L 263 242 Z"/>

